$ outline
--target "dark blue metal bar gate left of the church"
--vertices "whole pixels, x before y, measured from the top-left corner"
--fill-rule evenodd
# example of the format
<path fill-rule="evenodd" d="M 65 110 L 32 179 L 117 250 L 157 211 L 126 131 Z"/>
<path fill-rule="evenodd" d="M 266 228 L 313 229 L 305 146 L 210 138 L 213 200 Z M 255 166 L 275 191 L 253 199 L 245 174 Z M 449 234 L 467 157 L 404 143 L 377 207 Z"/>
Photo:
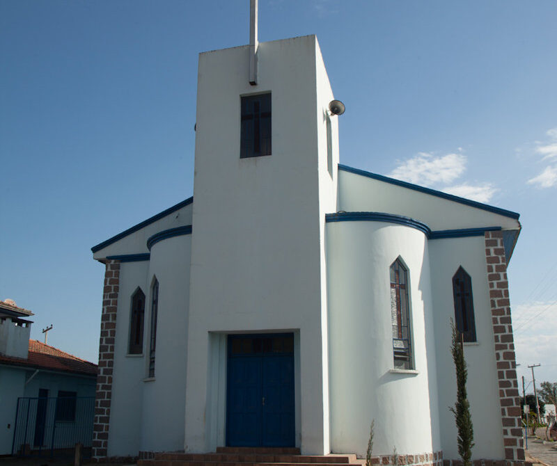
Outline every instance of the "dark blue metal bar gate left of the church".
<path fill-rule="evenodd" d="M 18 398 L 12 455 L 72 455 L 81 443 L 91 456 L 94 415 L 94 396 Z"/>

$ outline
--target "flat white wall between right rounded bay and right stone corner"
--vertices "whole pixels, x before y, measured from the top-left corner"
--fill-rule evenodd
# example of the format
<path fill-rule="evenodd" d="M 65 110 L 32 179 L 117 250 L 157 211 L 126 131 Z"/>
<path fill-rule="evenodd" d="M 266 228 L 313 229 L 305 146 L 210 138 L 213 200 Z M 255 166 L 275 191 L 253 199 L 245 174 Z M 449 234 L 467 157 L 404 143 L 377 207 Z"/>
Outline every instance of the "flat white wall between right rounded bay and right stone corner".
<path fill-rule="evenodd" d="M 465 344 L 474 442 L 472 457 L 503 459 L 503 427 L 499 405 L 492 316 L 489 308 L 483 236 L 430 240 L 434 291 L 435 345 L 439 373 L 439 419 L 444 458 L 459 458 L 457 431 L 448 406 L 456 401 L 455 367 L 450 355 L 450 319 L 455 319 L 453 275 L 462 266 L 472 280 L 477 344 Z"/>

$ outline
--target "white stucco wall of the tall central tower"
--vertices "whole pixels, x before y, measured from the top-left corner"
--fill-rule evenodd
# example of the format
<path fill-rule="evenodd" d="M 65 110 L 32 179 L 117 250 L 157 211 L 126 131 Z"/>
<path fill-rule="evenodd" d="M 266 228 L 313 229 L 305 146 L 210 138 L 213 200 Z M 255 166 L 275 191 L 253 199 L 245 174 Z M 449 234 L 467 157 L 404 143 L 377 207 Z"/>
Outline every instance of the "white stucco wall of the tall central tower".
<path fill-rule="evenodd" d="M 315 36 L 260 43 L 255 87 L 248 47 L 199 59 L 188 451 L 209 451 L 211 439 L 221 438 L 205 422 L 205 412 L 217 409 L 207 405 L 209 332 L 299 330 L 297 443 L 303 453 L 328 453 L 322 225 L 336 196 L 323 114 L 331 92 L 317 51 Z M 272 155 L 240 159 L 240 96 L 269 91 Z"/>

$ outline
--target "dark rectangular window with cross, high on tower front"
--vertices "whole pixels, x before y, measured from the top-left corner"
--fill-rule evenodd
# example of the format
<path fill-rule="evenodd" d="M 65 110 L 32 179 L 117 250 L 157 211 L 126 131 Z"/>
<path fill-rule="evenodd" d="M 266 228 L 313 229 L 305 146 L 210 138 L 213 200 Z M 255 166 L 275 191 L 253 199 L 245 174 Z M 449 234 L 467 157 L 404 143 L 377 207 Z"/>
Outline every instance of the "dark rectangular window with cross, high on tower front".
<path fill-rule="evenodd" d="M 271 94 L 242 97 L 240 159 L 271 155 Z"/>

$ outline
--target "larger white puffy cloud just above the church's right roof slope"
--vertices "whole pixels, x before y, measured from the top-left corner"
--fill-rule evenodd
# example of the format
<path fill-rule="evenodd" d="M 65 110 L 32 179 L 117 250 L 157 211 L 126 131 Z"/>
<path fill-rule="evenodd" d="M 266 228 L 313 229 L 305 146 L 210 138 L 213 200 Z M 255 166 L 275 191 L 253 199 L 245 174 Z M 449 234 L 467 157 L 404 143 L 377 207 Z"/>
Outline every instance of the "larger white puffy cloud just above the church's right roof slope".
<path fill-rule="evenodd" d="M 434 156 L 427 152 L 419 152 L 411 159 L 402 161 L 389 176 L 422 186 L 432 186 L 436 183 L 453 182 L 464 170 L 466 156 L 462 154 Z"/>

